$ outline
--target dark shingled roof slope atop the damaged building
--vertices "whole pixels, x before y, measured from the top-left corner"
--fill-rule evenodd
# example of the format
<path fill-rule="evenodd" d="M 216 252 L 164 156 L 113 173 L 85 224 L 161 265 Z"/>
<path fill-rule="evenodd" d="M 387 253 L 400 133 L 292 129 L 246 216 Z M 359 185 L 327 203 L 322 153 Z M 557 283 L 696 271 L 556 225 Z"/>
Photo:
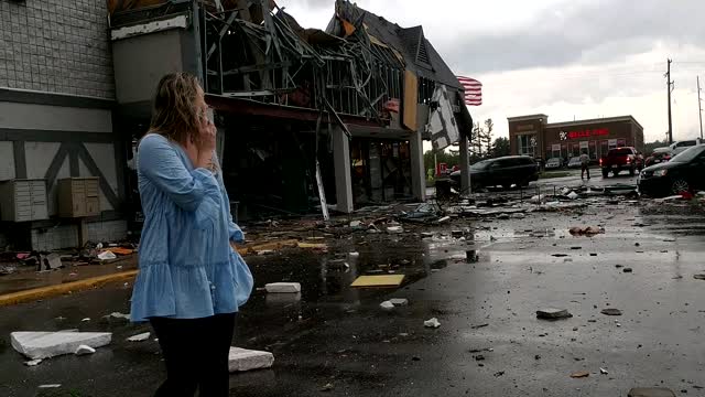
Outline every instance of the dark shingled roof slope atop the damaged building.
<path fill-rule="evenodd" d="M 368 34 L 401 53 L 408 69 L 415 72 L 419 76 L 463 89 L 453 71 L 431 42 L 426 40 L 421 25 L 401 28 L 397 23 L 364 10 L 347 0 L 337 0 L 336 10 L 341 18 L 350 23 L 361 22 L 367 28 Z"/>

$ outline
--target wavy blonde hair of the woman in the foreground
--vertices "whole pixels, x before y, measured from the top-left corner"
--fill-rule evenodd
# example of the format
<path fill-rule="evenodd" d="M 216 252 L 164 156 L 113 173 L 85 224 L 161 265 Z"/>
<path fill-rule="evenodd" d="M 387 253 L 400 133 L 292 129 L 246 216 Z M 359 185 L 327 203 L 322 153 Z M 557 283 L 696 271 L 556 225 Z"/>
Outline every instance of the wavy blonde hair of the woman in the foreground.
<path fill-rule="evenodd" d="M 178 143 L 199 143 L 198 110 L 195 103 L 200 85 L 188 73 L 170 73 L 162 77 L 154 95 L 150 132 L 160 133 Z"/>

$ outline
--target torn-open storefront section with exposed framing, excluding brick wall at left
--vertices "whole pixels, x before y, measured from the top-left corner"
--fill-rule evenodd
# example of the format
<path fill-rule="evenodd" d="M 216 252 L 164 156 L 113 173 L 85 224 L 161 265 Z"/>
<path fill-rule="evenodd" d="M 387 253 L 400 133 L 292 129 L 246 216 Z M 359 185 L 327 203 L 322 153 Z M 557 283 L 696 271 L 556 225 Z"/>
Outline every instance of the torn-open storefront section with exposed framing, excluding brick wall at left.
<path fill-rule="evenodd" d="M 110 10 L 110 35 L 120 129 L 132 138 L 161 75 L 203 82 L 240 218 L 423 201 L 423 139 L 443 149 L 471 128 L 463 88 L 423 29 L 348 1 L 335 2 L 325 31 L 274 1 L 124 2 Z"/>

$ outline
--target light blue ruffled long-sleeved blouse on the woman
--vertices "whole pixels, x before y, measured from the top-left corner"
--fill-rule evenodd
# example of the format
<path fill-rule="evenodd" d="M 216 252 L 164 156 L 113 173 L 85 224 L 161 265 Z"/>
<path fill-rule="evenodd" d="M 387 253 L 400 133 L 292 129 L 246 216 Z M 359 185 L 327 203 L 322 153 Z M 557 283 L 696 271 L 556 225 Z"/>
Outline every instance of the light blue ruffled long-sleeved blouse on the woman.
<path fill-rule="evenodd" d="M 237 312 L 253 281 L 229 244 L 243 236 L 223 176 L 194 169 L 177 143 L 156 133 L 141 140 L 137 164 L 144 226 L 131 320 Z"/>

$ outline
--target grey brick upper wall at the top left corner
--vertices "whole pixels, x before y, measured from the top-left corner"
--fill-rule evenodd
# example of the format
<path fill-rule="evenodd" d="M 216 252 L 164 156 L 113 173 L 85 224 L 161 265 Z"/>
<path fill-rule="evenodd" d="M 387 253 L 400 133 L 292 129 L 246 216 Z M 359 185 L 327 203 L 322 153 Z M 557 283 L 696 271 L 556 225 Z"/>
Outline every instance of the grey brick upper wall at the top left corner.
<path fill-rule="evenodd" d="M 0 0 L 0 87 L 115 98 L 105 0 Z"/>

